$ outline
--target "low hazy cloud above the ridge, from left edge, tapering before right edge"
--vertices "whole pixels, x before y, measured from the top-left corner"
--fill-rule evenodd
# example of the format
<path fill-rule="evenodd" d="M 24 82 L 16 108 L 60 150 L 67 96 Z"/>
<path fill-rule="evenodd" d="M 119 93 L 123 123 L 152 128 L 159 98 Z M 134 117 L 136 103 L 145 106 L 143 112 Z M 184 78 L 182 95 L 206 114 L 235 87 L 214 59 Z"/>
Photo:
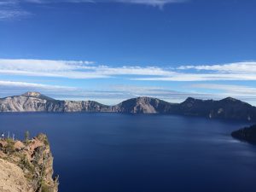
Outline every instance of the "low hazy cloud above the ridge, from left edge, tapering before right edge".
<path fill-rule="evenodd" d="M 169 102 L 183 102 L 188 96 L 206 98 L 207 94 L 180 92 L 165 87 L 113 84 L 105 89 L 83 89 L 69 86 L 35 84 L 20 81 L 0 81 L 0 98 L 18 96 L 26 91 L 39 91 L 46 96 L 61 100 L 95 100 L 104 104 L 117 104 L 137 96 L 151 96 Z"/>

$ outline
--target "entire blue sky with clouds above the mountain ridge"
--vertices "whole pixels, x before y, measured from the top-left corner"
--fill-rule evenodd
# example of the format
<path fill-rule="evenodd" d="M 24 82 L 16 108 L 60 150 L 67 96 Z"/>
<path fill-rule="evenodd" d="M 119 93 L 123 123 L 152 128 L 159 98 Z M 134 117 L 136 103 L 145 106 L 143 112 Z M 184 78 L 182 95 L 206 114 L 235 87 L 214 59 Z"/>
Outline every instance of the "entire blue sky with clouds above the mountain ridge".
<path fill-rule="evenodd" d="M 254 0 L 0 0 L 0 97 L 256 106 Z"/>

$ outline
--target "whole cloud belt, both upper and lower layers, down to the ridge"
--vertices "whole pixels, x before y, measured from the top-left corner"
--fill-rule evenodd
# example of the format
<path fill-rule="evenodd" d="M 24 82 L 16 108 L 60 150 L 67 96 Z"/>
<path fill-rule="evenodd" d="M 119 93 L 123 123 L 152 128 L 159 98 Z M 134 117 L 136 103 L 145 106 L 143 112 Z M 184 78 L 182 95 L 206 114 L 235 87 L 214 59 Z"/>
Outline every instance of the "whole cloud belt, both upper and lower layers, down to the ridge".
<path fill-rule="evenodd" d="M 166 101 L 183 101 L 188 96 L 221 99 L 235 96 L 256 104 L 256 88 L 237 82 L 255 82 L 255 61 L 180 67 L 99 65 L 94 61 L 54 61 L 34 59 L 0 59 L 0 87 L 9 96 L 25 90 L 38 90 L 56 98 L 96 99 L 114 104 L 126 98 L 153 96 Z M 32 79 L 31 79 L 32 78 Z M 10 80 L 11 79 L 11 80 Z M 13 80 L 19 79 L 19 80 Z M 24 79 L 20 81 L 20 79 Z M 27 82 L 30 79 L 32 82 Z M 37 79 L 36 81 L 33 79 Z M 53 82 L 48 83 L 48 79 Z M 90 79 L 104 82 L 85 86 Z M 37 81 L 40 83 L 38 84 Z M 75 85 L 70 81 L 77 82 Z M 44 83 L 42 83 L 44 82 Z M 122 83 L 124 82 L 124 83 Z M 158 85 L 139 85 L 156 82 Z M 178 89 L 160 82 L 183 84 Z M 211 83 L 212 82 L 212 83 Z M 219 83 L 224 82 L 224 83 Z M 90 84 L 90 83 L 89 83 Z M 132 85 L 135 84 L 135 85 Z M 185 85 L 184 85 L 185 84 Z M 112 100 L 112 101 L 111 101 Z"/>

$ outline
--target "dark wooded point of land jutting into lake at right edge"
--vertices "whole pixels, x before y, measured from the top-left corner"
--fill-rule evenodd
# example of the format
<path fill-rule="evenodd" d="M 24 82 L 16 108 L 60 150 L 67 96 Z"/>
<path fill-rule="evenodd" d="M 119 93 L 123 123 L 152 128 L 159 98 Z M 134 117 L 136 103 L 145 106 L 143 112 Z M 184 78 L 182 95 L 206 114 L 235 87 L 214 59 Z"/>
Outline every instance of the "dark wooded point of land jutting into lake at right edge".
<path fill-rule="evenodd" d="M 252 125 L 241 130 L 234 131 L 232 132 L 231 135 L 232 137 L 235 137 L 239 140 L 256 144 L 256 125 Z"/>

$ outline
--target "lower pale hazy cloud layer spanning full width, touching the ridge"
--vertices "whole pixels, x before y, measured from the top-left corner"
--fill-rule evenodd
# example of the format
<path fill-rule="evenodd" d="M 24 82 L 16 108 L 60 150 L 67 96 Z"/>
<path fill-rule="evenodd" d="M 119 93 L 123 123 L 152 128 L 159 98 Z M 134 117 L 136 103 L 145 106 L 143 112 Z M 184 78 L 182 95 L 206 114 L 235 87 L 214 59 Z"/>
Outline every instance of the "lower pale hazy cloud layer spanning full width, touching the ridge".
<path fill-rule="evenodd" d="M 97 102 L 110 105 L 137 96 L 151 96 L 166 100 L 167 102 L 183 102 L 189 96 L 200 99 L 217 100 L 227 96 L 233 96 L 242 101 L 250 102 L 253 105 L 256 104 L 256 88 L 254 87 L 237 84 L 189 84 L 183 88 L 185 91 L 172 90 L 161 86 L 112 84 L 105 88 L 96 87 L 95 89 L 86 89 L 57 84 L 37 84 L 0 80 L 0 97 L 16 96 L 30 90 L 42 92 L 44 95 L 51 96 L 55 99 L 79 101 L 96 100 Z M 193 91 L 191 91 L 191 88 Z M 195 88 L 199 90 L 195 91 Z M 219 91 L 216 92 L 215 90 Z"/>

